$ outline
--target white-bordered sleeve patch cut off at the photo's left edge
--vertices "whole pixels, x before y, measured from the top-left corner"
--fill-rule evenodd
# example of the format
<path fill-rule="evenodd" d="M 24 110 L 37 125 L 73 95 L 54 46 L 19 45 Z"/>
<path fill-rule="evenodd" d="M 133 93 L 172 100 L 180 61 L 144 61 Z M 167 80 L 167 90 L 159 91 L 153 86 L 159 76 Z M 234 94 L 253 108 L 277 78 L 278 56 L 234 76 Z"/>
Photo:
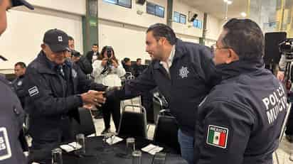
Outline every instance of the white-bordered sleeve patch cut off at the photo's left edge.
<path fill-rule="evenodd" d="M 5 127 L 0 128 L 0 160 L 11 158 L 11 147 L 7 130 Z"/>

